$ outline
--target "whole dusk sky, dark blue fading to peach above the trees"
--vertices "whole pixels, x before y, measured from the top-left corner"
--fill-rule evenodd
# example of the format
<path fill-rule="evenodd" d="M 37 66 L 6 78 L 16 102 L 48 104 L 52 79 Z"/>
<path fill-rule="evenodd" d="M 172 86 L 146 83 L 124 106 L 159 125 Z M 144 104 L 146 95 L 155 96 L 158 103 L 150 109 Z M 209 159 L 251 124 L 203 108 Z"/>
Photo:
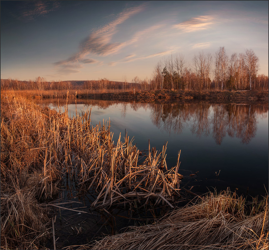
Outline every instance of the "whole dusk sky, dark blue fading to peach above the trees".
<path fill-rule="evenodd" d="M 268 75 L 268 1 L 1 1 L 2 79 L 131 82 L 223 46 Z"/>

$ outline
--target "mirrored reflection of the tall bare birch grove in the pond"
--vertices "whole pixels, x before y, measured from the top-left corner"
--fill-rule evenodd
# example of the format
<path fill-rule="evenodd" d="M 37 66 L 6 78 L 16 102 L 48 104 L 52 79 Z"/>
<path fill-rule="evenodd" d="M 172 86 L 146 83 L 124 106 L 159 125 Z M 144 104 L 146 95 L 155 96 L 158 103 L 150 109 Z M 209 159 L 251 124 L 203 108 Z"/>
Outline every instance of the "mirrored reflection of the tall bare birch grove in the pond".
<path fill-rule="evenodd" d="M 266 104 L 152 104 L 150 118 L 157 128 L 169 134 L 181 134 L 188 126 L 199 138 L 212 133 L 220 145 L 226 135 L 249 143 L 257 131 L 257 115 L 267 111 Z"/>

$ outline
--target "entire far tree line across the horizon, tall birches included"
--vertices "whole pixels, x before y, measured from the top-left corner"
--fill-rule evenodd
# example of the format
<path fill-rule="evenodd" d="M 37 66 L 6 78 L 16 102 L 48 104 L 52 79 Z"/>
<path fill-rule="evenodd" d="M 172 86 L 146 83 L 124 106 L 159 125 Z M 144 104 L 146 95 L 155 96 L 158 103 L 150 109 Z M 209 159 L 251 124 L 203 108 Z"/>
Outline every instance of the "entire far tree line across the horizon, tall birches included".
<path fill-rule="evenodd" d="M 224 47 L 213 55 L 199 52 L 188 62 L 182 53 L 160 60 L 154 67 L 152 78 L 135 76 L 131 83 L 110 81 L 107 78 L 82 81 L 19 81 L 1 79 L 1 89 L 14 90 L 67 90 L 83 88 L 88 90 L 268 90 L 268 76 L 257 75 L 259 58 L 252 49 L 244 53 L 233 53 L 228 57 Z"/>

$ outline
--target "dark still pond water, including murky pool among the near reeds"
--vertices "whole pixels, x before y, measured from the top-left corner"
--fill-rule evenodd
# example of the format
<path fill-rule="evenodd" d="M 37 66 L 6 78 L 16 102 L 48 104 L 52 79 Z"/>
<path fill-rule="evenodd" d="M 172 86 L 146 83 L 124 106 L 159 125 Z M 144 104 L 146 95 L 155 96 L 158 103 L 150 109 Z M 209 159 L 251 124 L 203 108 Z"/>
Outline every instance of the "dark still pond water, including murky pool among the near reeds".
<path fill-rule="evenodd" d="M 56 107 L 55 103 L 50 106 Z M 64 110 L 64 106 L 60 107 Z M 127 131 L 130 138 L 134 137 L 133 144 L 136 143 L 139 150 L 148 149 L 149 140 L 150 146 L 157 150 L 161 150 L 168 141 L 168 167 L 176 164 L 178 151 L 181 150 L 179 173 L 188 176 L 198 172 L 194 178 L 183 179 L 182 185 L 188 189 L 193 186 L 191 191 L 195 193 L 214 189 L 221 191 L 229 187 L 238 194 L 257 196 L 265 195 L 268 190 L 268 103 L 146 104 L 85 100 L 84 103 L 68 105 L 71 117 L 76 115 L 76 109 L 81 112 L 90 108 L 93 126 L 99 121 L 102 123 L 103 119 L 110 119 L 110 131 L 114 133 L 114 140 L 117 140 L 120 133 L 123 138 Z M 76 192 L 72 189 L 75 187 L 70 192 L 62 192 L 63 200 L 77 199 L 83 203 L 80 204 L 81 207 L 86 206 L 80 209 L 89 211 L 89 198 L 76 197 Z M 79 203 L 72 203 L 74 204 Z M 72 241 L 68 243 L 87 242 L 101 232 L 115 233 L 128 225 L 147 223 L 146 218 L 155 216 L 155 211 L 141 211 L 138 215 L 130 214 L 130 211 L 114 210 L 113 217 L 99 211 L 91 215 L 80 214 L 79 219 L 76 216 L 75 220 L 67 219 L 66 224 L 70 221 L 79 224 L 77 229 L 86 223 L 84 231 L 78 233 L 76 240 L 71 237 Z M 132 216 L 140 217 L 141 220 L 134 221 L 130 219 Z M 126 218 L 120 219 L 124 217 Z M 58 224 L 58 227 L 65 230 L 63 224 Z M 71 230 L 69 224 L 67 227 Z M 59 234 L 67 233 L 61 230 L 58 231 Z M 70 235 L 75 232 L 76 228 Z M 63 245 L 68 245 L 66 237 L 60 238 L 58 242 L 60 241 Z"/>

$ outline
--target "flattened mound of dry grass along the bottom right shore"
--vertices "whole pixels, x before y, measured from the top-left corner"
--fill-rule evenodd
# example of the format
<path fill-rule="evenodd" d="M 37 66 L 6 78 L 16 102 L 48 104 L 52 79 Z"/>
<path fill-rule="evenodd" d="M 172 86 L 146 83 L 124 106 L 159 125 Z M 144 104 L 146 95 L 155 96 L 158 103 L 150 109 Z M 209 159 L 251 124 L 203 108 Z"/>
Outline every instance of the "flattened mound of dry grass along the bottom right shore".
<path fill-rule="evenodd" d="M 152 225 L 68 248 L 268 249 L 268 197 L 247 205 L 235 193 L 209 193 Z"/>

